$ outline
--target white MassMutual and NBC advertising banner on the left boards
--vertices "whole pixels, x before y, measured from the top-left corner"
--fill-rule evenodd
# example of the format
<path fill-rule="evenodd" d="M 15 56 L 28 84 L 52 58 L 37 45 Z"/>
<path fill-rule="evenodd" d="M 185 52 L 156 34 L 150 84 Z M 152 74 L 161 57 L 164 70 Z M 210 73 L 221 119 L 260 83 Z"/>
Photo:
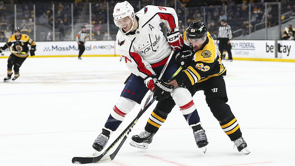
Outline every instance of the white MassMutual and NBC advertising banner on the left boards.
<path fill-rule="evenodd" d="M 0 43 L 4 46 L 5 43 Z M 78 56 L 77 42 L 36 42 L 35 57 Z M 9 52 L 4 55 L 9 56 Z M 115 41 L 88 41 L 83 56 L 115 56 Z M 119 56 L 119 55 L 116 55 Z"/>

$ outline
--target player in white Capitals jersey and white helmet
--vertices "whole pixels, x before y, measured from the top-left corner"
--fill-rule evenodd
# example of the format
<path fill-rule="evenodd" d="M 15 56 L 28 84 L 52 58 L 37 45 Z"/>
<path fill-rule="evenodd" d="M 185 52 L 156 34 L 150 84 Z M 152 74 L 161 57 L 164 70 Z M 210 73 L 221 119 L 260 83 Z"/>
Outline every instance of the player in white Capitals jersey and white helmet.
<path fill-rule="evenodd" d="M 206 146 L 207 138 L 191 94 L 185 88 L 173 88 L 164 82 L 179 68 L 175 58 L 169 62 L 162 79 L 157 80 L 172 49 L 176 50 L 183 45 L 175 10 L 170 7 L 147 5 L 135 13 L 132 5 L 124 1 L 114 6 L 113 19 L 119 27 L 116 36 L 118 51 L 132 74 L 127 78 L 121 96 L 92 147 L 101 151 L 125 115 L 134 108 L 136 103 L 140 104 L 149 90 L 154 92 L 157 100 L 172 96 L 193 129 L 198 147 Z M 161 31 L 160 23 L 166 24 L 168 28 L 167 39 Z M 151 123 L 158 125 L 165 120 L 161 117 L 165 117 L 166 113 L 156 107 L 153 115 Z M 151 136 L 151 133 L 146 131 L 141 134 L 143 137 Z M 202 137 L 197 135 L 202 135 Z"/>

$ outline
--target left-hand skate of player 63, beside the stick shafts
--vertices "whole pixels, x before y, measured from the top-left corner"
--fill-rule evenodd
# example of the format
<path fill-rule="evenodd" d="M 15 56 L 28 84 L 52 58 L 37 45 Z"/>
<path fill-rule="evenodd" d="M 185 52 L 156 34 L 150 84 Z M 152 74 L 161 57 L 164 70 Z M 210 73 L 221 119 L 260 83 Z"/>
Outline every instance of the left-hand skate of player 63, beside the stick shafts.
<path fill-rule="evenodd" d="M 140 149 L 147 149 L 149 144 L 152 143 L 154 135 L 155 133 L 143 131 L 138 135 L 132 136 L 130 144 Z"/>

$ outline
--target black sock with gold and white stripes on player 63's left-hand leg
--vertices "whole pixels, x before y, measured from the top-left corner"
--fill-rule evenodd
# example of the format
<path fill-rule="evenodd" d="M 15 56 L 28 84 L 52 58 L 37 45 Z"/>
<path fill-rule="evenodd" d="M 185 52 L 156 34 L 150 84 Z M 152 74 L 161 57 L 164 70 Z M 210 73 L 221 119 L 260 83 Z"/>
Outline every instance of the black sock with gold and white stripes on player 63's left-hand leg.
<path fill-rule="evenodd" d="M 161 111 L 154 110 L 148 119 L 148 122 L 145 126 L 145 131 L 150 133 L 156 133 L 159 130 L 159 127 L 164 123 L 167 118 L 167 114 Z"/>

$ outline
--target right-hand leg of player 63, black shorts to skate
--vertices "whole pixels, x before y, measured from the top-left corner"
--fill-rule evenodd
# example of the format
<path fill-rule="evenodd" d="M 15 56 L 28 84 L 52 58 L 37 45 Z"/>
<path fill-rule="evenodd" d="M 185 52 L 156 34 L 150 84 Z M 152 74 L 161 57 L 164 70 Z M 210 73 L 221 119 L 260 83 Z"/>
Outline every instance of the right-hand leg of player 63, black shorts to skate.
<path fill-rule="evenodd" d="M 247 143 L 242 137 L 242 132 L 237 119 L 227 105 L 227 92 L 223 76 L 212 77 L 204 81 L 204 94 L 206 102 L 214 117 L 219 121 L 221 128 L 229 139 L 237 146 L 238 151 L 250 153 L 247 150 Z"/>

